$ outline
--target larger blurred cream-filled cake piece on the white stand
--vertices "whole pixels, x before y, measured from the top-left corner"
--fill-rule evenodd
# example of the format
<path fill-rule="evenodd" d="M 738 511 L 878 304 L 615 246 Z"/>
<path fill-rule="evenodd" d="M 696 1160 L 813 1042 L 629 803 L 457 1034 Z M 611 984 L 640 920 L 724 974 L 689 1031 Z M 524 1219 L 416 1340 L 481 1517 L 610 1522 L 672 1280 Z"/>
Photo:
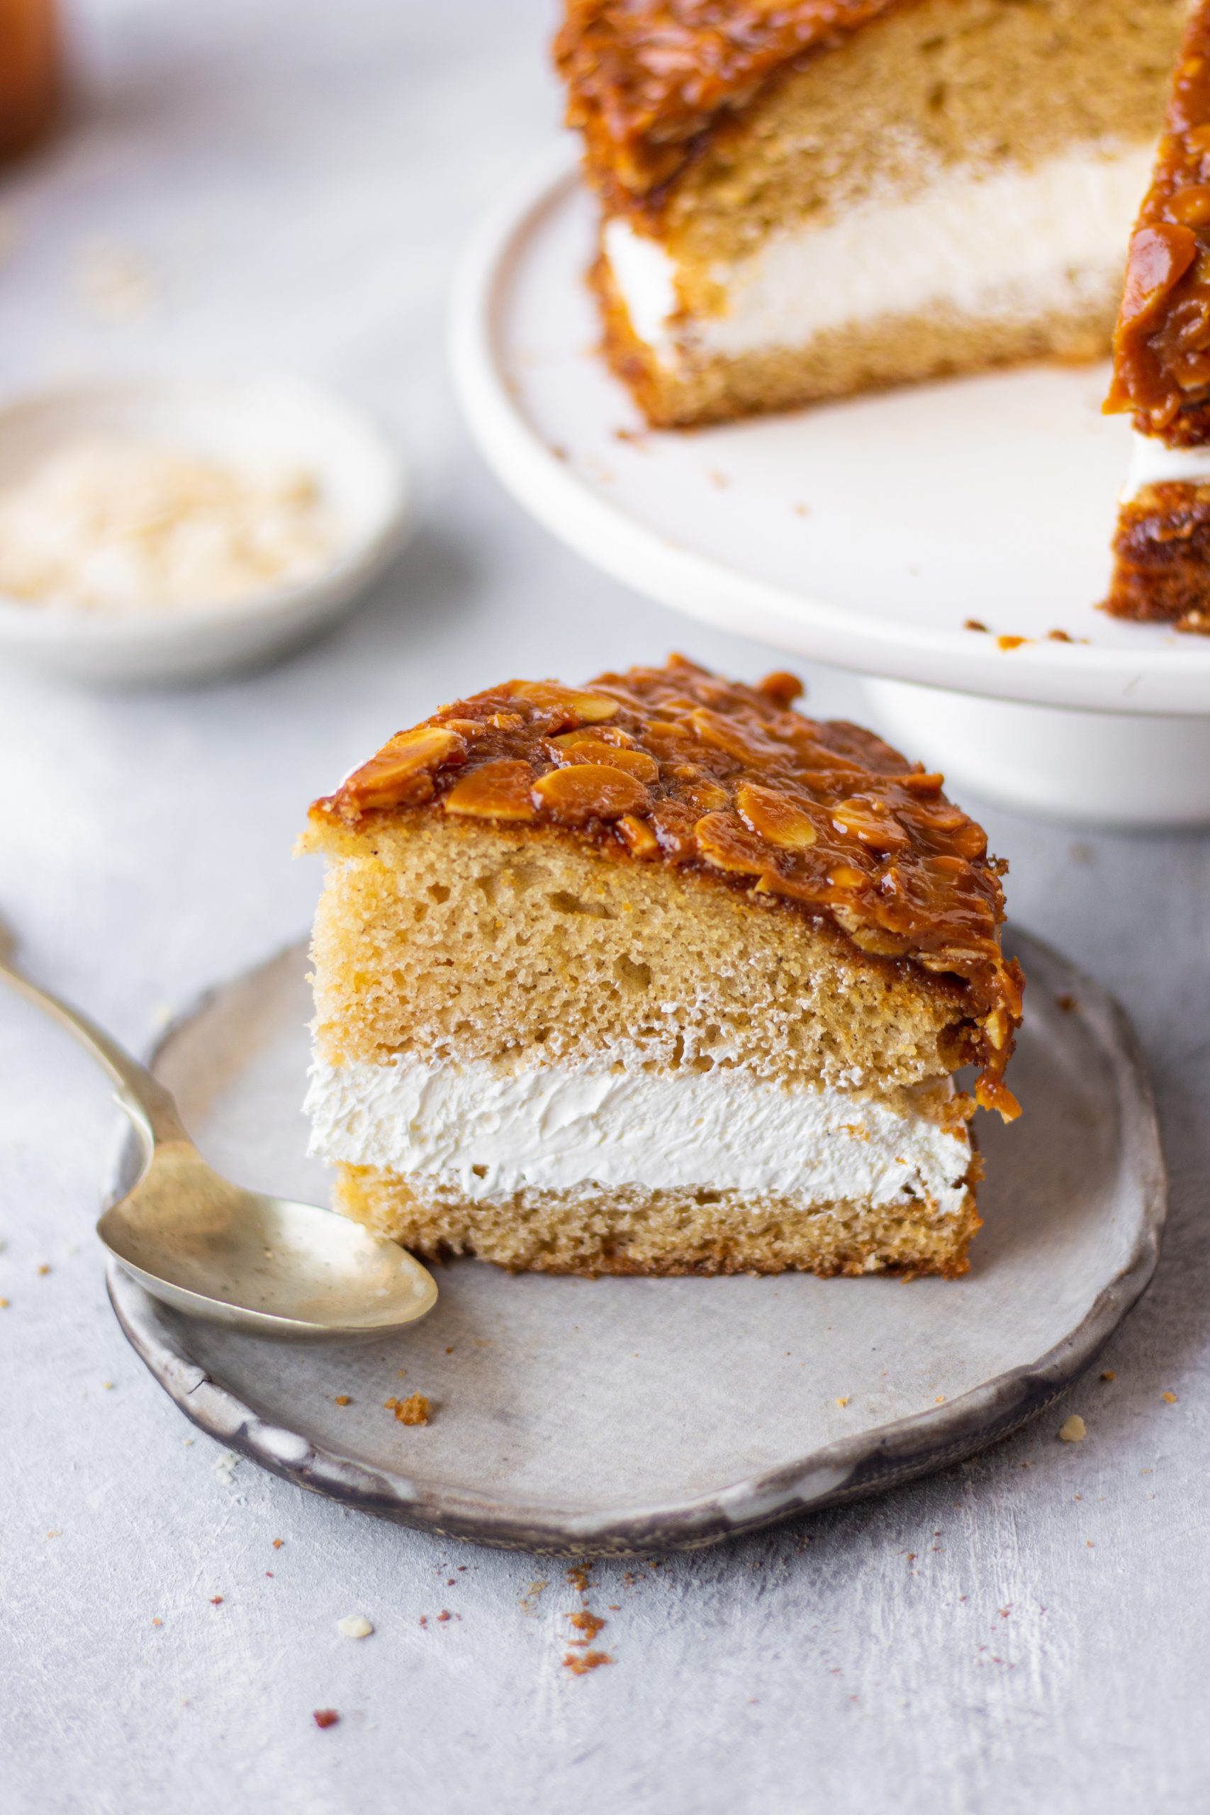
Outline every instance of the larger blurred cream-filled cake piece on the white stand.
<path fill-rule="evenodd" d="M 566 0 L 653 425 L 1108 352 L 1186 0 Z"/>

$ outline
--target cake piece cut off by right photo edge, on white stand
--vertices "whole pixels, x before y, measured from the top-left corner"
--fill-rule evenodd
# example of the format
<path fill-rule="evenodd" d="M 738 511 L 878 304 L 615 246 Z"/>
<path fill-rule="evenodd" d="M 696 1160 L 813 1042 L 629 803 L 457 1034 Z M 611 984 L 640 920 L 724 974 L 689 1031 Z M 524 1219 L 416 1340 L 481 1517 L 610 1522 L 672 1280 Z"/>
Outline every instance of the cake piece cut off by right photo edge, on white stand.
<path fill-rule="evenodd" d="M 1210 635 L 1210 4 L 1130 240 L 1105 408 L 1134 412 L 1107 610 Z"/>

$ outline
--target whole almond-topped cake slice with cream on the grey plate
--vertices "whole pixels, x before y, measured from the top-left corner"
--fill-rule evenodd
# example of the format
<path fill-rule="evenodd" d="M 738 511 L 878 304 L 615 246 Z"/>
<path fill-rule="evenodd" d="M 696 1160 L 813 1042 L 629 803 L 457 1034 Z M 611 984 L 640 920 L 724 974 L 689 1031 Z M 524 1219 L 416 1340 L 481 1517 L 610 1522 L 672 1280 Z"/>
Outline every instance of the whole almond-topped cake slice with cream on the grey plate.
<path fill-rule="evenodd" d="M 965 1270 L 967 1123 L 1018 1113 L 1005 866 L 796 693 L 682 659 L 510 681 L 312 806 L 339 1209 L 512 1269 Z"/>

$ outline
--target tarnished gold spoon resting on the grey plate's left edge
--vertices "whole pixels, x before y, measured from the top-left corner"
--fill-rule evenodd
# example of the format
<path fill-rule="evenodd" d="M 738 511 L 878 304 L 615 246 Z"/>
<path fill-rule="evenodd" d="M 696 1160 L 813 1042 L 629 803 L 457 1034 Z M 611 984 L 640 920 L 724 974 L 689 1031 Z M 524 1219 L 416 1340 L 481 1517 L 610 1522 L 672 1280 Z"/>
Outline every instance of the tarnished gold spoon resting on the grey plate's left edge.
<path fill-rule="evenodd" d="M 96 1232 L 165 1305 L 261 1336 L 381 1336 L 437 1303 L 405 1249 L 314 1203 L 267 1198 L 212 1172 L 172 1096 L 94 1022 L 38 989 L 0 924 L 0 976 L 67 1027 L 116 1085 L 143 1143 L 143 1171 Z"/>

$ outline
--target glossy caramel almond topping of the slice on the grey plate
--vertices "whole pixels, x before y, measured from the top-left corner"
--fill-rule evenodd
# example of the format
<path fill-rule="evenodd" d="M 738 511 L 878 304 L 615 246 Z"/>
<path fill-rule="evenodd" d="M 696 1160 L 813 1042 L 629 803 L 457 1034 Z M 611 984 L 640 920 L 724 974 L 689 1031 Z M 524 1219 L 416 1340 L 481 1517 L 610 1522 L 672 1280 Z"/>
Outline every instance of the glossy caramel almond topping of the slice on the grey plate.
<path fill-rule="evenodd" d="M 983 831 L 869 731 L 789 710 L 675 657 L 586 690 L 510 681 L 392 737 L 312 820 L 372 831 L 417 811 L 501 820 L 677 866 L 840 927 L 862 951 L 965 986 L 980 1102 L 1003 1114 L 1021 975 L 1000 951 L 1003 864 Z"/>

